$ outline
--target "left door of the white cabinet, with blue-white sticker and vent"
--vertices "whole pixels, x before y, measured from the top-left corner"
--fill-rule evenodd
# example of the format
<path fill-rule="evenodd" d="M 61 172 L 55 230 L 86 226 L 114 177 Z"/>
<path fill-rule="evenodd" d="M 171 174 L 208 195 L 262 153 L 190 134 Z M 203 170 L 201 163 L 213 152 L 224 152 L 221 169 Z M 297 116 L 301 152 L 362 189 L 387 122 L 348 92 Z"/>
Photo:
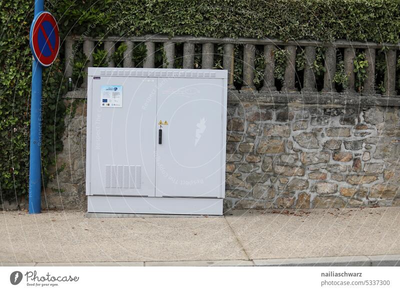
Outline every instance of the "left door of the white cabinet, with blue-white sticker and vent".
<path fill-rule="evenodd" d="M 157 78 L 101 76 L 91 82 L 90 194 L 154 196 Z M 121 107 L 108 107 L 100 92 L 118 85 Z"/>

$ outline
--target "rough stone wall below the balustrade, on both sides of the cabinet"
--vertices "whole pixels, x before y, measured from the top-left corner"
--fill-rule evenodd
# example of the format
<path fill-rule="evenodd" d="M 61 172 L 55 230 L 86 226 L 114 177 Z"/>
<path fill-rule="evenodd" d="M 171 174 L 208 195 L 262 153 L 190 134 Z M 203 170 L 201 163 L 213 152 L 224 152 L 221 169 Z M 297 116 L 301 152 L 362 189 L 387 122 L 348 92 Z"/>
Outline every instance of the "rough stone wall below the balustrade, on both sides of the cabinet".
<path fill-rule="evenodd" d="M 376 105 L 383 98 L 316 104 L 299 94 L 252 96 L 228 96 L 225 208 L 400 205 L 398 106 Z M 42 205 L 85 210 L 85 99 L 64 102 L 64 150 Z"/>

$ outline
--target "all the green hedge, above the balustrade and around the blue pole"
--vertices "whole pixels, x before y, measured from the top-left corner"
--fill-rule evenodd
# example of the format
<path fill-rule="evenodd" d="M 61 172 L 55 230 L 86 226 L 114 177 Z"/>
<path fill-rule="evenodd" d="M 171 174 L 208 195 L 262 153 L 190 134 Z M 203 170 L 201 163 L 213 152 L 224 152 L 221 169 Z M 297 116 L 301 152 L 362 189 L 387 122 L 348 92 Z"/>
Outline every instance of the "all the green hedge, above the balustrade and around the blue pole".
<path fill-rule="evenodd" d="M 1 200 L 27 193 L 33 2 L 0 0 Z M 59 21 L 61 42 L 68 34 L 161 33 L 396 43 L 400 31 L 398 0 L 48 0 L 45 7 Z M 51 176 L 48 165 L 62 149 L 62 53 L 61 48 L 57 61 L 43 70 L 44 184 Z"/>

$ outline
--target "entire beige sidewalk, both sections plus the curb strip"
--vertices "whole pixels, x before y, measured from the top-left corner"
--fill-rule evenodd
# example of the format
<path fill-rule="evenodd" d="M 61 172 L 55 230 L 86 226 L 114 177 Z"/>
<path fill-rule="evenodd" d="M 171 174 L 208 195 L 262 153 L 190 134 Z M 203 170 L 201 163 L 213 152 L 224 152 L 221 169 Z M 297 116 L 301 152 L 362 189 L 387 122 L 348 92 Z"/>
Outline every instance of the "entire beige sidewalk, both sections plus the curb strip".
<path fill-rule="evenodd" d="M 400 207 L 143 218 L 4 211 L 0 221 L 0 265 L 400 264 Z"/>

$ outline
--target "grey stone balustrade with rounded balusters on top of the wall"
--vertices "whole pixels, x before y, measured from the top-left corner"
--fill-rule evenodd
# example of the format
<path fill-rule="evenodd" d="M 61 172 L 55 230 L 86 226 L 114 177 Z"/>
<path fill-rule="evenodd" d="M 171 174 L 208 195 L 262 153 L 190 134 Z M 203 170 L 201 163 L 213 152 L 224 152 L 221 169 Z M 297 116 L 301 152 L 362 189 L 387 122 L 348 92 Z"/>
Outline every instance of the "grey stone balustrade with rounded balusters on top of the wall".
<path fill-rule="evenodd" d="M 163 50 L 165 52 L 165 60 L 163 67 L 173 68 L 175 58 L 175 43 L 183 43 L 183 68 L 193 68 L 195 46 L 194 44 L 201 44 L 201 68 L 211 69 L 214 65 L 214 45 L 223 44 L 222 62 L 223 68 L 228 70 L 228 87 L 233 88 L 233 68 L 234 68 L 234 45 L 243 45 L 243 60 L 242 60 L 242 79 L 243 86 L 241 90 L 255 90 L 253 83 L 254 80 L 254 61 L 255 61 L 255 45 L 263 46 L 263 55 L 265 58 L 265 66 L 263 71 L 263 86 L 261 91 L 276 92 L 275 79 L 274 79 L 274 49 L 277 46 L 283 46 L 288 52 L 285 56 L 285 69 L 282 82 L 281 91 L 295 92 L 296 81 L 296 46 L 304 47 L 305 66 L 303 71 L 303 81 L 301 84 L 301 91 L 316 92 L 316 76 L 313 69 L 313 63 L 316 57 L 316 47 L 324 47 L 325 52 L 323 56 L 323 88 L 322 92 L 336 91 L 334 85 L 334 75 L 336 72 L 336 48 L 344 50 L 343 65 L 344 73 L 347 76 L 347 84 L 345 87 L 346 92 L 355 93 L 355 73 L 354 73 L 354 60 L 356 57 L 355 49 L 362 49 L 365 54 L 365 60 L 368 66 L 365 67 L 366 78 L 363 80 L 363 88 L 361 93 L 365 95 L 375 94 L 375 51 L 382 47 L 385 50 L 386 68 L 384 71 L 384 92 L 385 96 L 395 96 L 396 92 L 396 57 L 397 49 L 400 49 L 400 43 L 375 43 L 375 42 L 360 42 L 338 39 L 332 42 L 322 42 L 316 40 L 290 40 L 282 41 L 274 38 L 210 38 L 210 37 L 194 37 L 194 36 L 173 36 L 148 34 L 143 36 L 107 36 L 107 37 L 88 37 L 88 36 L 68 36 L 65 39 L 65 75 L 72 75 L 73 57 L 76 49 L 76 42 L 83 42 L 83 53 L 87 56 L 87 66 L 92 66 L 93 58 L 92 52 L 95 48 L 95 43 L 102 41 L 104 49 L 107 51 L 108 67 L 114 67 L 115 64 L 111 58 L 115 50 L 116 42 L 124 42 L 126 50 L 123 52 L 123 67 L 133 67 L 132 50 L 134 42 L 143 42 L 146 46 L 146 56 L 143 60 L 143 67 L 152 68 L 155 64 L 154 52 L 155 43 L 163 43 Z M 220 55 L 220 54 L 219 54 Z M 86 80 L 82 86 L 86 86 Z"/>

